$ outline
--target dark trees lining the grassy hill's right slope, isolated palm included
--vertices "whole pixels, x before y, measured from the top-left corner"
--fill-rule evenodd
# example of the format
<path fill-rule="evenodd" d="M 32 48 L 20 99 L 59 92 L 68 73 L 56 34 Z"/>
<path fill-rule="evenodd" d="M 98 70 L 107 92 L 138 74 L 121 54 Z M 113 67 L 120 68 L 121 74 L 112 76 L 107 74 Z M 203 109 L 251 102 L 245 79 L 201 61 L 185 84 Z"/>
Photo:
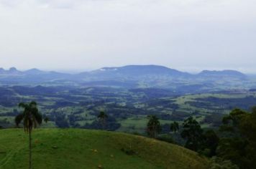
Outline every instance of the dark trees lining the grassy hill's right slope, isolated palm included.
<path fill-rule="evenodd" d="M 157 138 L 161 131 L 157 116 L 150 115 L 147 134 Z M 218 130 L 204 130 L 193 117 L 170 124 L 170 132 L 180 135 L 185 148 L 212 158 L 215 168 L 250 169 L 256 166 L 256 107 L 251 112 L 232 110 L 222 119 Z"/>

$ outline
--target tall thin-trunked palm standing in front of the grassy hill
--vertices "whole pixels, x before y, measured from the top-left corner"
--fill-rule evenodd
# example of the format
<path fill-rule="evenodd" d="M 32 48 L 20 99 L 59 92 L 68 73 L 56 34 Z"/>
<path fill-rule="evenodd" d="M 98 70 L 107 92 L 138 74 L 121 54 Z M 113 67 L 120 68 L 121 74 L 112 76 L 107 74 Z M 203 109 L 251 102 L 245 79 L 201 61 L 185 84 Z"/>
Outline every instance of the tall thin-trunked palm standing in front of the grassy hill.
<path fill-rule="evenodd" d="M 16 125 L 19 126 L 19 123 L 23 121 L 24 132 L 29 134 L 29 169 L 32 169 L 32 145 L 31 145 L 31 132 L 33 127 L 37 127 L 42 123 L 42 115 L 38 112 L 37 103 L 19 103 L 19 107 L 23 108 L 23 112 L 15 117 Z"/>

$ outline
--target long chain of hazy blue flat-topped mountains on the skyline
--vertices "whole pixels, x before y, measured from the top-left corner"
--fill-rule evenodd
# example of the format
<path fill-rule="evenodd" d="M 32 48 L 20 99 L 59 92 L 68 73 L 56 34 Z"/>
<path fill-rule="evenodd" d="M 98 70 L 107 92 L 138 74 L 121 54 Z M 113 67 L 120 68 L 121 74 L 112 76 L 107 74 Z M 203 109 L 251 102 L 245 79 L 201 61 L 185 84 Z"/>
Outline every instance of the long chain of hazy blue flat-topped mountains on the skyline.
<path fill-rule="evenodd" d="M 15 77 L 15 78 L 14 78 Z M 173 87 L 180 90 L 180 86 L 188 88 L 199 87 L 209 89 L 209 83 L 221 79 L 226 82 L 237 82 L 247 79 L 245 74 L 234 70 L 209 71 L 199 74 L 189 74 L 176 69 L 158 65 L 128 65 L 124 67 L 103 67 L 91 72 L 79 74 L 65 74 L 60 72 L 45 72 L 40 69 L 19 71 L 15 67 L 9 70 L 0 69 L 0 82 L 2 84 L 56 84 L 82 85 L 82 86 L 111 86 L 111 87 Z M 207 85 L 201 85 L 205 84 Z M 192 84 L 193 86 L 187 86 Z M 199 85 L 198 85 L 199 84 Z"/>

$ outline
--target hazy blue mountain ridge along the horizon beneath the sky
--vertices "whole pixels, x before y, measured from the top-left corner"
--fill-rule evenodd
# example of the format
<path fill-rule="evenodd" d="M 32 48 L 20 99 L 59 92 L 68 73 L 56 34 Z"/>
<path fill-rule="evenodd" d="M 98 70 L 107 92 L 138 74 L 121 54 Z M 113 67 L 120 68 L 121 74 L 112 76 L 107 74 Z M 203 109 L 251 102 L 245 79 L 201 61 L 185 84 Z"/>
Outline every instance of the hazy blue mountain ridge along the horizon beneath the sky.
<path fill-rule="evenodd" d="M 15 78 L 13 78 L 15 77 Z M 155 82 L 168 85 L 173 82 L 201 80 L 214 81 L 218 79 L 246 79 L 247 75 L 235 70 L 209 71 L 204 70 L 198 74 L 181 72 L 159 65 L 127 65 L 124 67 L 102 67 L 90 72 L 66 74 L 60 72 L 47 72 L 40 69 L 19 71 L 15 67 L 6 70 L 0 68 L 0 82 L 86 82 L 86 84 L 119 84 L 126 86 L 134 84 L 154 84 Z M 107 81 L 103 82 L 103 81 Z M 88 83 L 93 82 L 93 83 Z M 131 84 L 132 85 L 132 84 Z"/>

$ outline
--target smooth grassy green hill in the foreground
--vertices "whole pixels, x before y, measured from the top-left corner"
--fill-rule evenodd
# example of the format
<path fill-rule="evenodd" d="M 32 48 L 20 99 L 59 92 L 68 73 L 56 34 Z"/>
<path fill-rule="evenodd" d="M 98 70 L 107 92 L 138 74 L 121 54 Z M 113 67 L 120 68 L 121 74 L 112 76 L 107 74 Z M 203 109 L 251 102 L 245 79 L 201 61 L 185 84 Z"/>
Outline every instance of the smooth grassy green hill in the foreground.
<path fill-rule="evenodd" d="M 33 168 L 206 168 L 196 153 L 120 132 L 37 129 L 32 133 Z M 0 130 L 0 168 L 28 168 L 28 136 Z"/>

